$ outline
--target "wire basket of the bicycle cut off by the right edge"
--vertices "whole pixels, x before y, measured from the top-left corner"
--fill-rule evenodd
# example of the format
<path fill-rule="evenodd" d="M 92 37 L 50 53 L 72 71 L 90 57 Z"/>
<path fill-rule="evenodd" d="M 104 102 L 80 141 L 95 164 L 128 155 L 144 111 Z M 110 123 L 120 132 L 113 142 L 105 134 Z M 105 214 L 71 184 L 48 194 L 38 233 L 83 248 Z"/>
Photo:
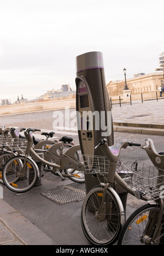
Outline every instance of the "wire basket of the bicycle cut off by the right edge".
<path fill-rule="evenodd" d="M 164 198 L 164 170 L 145 162 L 122 162 L 127 187 L 138 190 L 148 200 Z"/>

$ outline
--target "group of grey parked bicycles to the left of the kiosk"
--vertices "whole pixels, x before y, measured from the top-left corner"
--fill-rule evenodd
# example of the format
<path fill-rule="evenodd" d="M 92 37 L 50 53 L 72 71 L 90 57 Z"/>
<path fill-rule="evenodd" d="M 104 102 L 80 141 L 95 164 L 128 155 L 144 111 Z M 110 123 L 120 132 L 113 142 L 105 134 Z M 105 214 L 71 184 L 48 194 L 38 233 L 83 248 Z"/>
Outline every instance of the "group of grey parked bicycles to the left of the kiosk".
<path fill-rule="evenodd" d="M 0 183 L 16 193 L 30 190 L 43 171 L 84 183 L 84 164 L 80 146 L 73 138 L 53 139 L 54 132 L 43 132 L 40 141 L 35 128 L 0 127 Z M 22 132 L 24 135 L 22 136 Z M 41 164 L 40 164 L 41 163 Z"/>

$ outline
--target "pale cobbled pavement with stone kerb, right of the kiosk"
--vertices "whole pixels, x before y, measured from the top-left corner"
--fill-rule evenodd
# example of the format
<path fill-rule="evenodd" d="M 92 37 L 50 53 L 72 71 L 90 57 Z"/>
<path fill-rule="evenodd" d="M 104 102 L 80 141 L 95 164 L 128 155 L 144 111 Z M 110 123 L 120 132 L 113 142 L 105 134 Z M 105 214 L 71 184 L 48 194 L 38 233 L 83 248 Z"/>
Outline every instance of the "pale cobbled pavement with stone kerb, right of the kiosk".
<path fill-rule="evenodd" d="M 113 105 L 114 131 L 164 135 L 164 99 Z"/>

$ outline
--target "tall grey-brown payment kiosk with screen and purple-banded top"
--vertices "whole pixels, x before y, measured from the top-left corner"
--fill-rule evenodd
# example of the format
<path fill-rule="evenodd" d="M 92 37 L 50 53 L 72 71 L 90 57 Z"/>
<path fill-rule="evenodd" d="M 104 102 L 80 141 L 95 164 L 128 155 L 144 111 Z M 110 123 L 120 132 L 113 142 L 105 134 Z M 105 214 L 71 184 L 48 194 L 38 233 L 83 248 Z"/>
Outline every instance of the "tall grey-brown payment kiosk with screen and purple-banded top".
<path fill-rule="evenodd" d="M 101 52 L 92 51 L 77 56 L 76 108 L 81 153 L 102 155 L 95 149 L 101 138 L 106 138 L 109 146 L 114 144 L 113 121 L 108 91 L 104 75 Z M 98 184 L 97 178 L 85 173 L 86 192 Z"/>

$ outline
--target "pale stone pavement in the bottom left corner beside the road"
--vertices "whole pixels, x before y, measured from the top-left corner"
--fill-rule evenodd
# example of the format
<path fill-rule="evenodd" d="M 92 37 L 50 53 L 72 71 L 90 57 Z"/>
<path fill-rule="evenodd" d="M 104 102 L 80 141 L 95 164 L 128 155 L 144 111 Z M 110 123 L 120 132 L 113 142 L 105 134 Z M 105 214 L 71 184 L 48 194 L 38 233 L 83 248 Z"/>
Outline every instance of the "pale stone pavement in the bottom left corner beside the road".
<path fill-rule="evenodd" d="M 0 245 L 56 245 L 56 243 L 0 199 Z"/>

